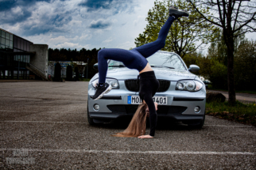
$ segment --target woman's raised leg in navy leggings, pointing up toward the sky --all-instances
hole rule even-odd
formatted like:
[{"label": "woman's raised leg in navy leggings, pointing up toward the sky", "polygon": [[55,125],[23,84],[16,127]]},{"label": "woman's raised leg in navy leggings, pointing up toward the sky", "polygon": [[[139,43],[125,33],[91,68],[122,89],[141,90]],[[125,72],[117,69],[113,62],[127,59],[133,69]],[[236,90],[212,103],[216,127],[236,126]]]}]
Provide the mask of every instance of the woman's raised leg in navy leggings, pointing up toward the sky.
[{"label": "woman's raised leg in navy leggings, pointing up toward the sky", "polygon": [[165,22],[165,25],[160,29],[157,40],[152,43],[146,43],[140,47],[134,48],[134,50],[138,51],[145,58],[148,58],[150,55],[153,55],[155,52],[161,50],[161,48],[165,47],[165,39],[168,35],[169,29],[171,28],[174,17],[169,17]]}]

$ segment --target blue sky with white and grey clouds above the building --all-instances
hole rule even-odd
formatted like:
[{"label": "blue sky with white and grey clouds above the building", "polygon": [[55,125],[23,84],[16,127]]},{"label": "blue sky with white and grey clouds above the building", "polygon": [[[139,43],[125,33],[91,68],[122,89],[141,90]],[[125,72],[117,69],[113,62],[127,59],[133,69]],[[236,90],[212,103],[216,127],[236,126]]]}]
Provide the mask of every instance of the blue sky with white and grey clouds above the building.
[{"label": "blue sky with white and grey clouds above the building", "polygon": [[[0,28],[52,48],[135,47],[155,0],[0,0]],[[246,35],[256,40],[256,33]]]}]

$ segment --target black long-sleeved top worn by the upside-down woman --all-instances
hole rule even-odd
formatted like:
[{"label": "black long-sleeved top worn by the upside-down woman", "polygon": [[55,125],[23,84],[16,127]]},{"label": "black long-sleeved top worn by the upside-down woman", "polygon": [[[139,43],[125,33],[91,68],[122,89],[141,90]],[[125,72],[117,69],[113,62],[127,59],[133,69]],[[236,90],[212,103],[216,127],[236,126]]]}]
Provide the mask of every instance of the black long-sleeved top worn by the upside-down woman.
[{"label": "black long-sleeved top worn by the upside-down woman", "polygon": [[155,135],[157,127],[157,111],[153,103],[153,96],[157,93],[159,81],[157,80],[153,71],[143,72],[139,76],[140,92],[139,96],[149,107],[149,123],[150,123],[150,136]]}]

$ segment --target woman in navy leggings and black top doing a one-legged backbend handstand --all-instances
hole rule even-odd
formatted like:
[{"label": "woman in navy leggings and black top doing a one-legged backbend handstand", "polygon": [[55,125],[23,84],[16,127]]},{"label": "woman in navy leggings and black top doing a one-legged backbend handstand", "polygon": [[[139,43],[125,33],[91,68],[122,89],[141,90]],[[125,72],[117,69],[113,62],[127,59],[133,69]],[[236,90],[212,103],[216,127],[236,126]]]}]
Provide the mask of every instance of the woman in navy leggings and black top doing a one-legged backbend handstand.
[{"label": "woman in navy leggings and black top doing a one-legged backbend handstand", "polygon": [[[122,136],[139,136],[138,138],[153,138],[155,134],[155,128],[157,126],[157,111],[155,104],[153,103],[153,96],[157,92],[157,89],[159,87],[159,81],[155,77],[153,69],[149,65],[149,62],[146,60],[146,58],[161,50],[161,48],[165,47],[165,39],[168,35],[169,28],[173,24],[173,21],[178,17],[188,17],[188,13],[180,11],[176,7],[171,6],[169,8],[168,20],[161,28],[157,40],[152,43],[146,43],[132,50],[104,48],[98,53],[99,84],[97,86],[95,95],[92,96],[93,100],[100,99],[103,94],[108,93],[112,89],[111,85],[105,83],[107,76],[108,59],[123,62],[123,64],[129,69],[136,69],[139,72],[139,96],[142,99],[143,103],[139,105],[138,110],[136,111],[132,121],[130,122],[130,125],[133,124],[133,126],[129,125],[129,127],[139,129],[139,131],[135,130],[136,133],[133,134],[131,131],[127,130],[129,128],[128,127],[123,133],[121,133]],[[145,134],[144,127],[146,108],[148,108],[149,110],[150,133],[149,135],[140,136],[141,134]],[[138,118],[139,115],[142,115],[141,119]],[[136,126],[143,127],[143,129],[137,128]],[[118,136],[118,134],[116,135]]]}]

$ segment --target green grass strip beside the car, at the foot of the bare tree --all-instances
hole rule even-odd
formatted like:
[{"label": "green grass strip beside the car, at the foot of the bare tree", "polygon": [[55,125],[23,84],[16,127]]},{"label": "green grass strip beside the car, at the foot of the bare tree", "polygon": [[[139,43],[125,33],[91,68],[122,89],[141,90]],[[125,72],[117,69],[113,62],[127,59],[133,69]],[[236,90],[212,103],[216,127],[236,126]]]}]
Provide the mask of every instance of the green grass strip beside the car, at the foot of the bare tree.
[{"label": "green grass strip beside the car, at the foot of the bare tree", "polygon": [[220,119],[228,119],[256,127],[256,104],[242,104],[238,100],[234,106],[227,101],[206,103],[206,115]]}]

